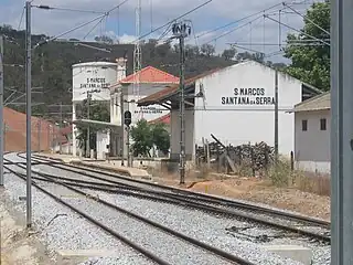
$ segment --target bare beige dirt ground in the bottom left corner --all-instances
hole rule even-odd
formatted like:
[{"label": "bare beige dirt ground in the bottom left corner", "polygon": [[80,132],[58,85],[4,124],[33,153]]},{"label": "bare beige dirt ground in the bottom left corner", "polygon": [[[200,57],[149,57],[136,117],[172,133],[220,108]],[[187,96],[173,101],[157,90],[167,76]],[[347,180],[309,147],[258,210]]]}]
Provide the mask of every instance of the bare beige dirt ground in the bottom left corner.
[{"label": "bare beige dirt ground in the bottom left corner", "polygon": [[35,229],[25,227],[25,216],[14,210],[2,189],[0,189],[0,225],[1,225],[1,265],[72,265],[55,256],[52,259],[45,246],[35,237]]}]

